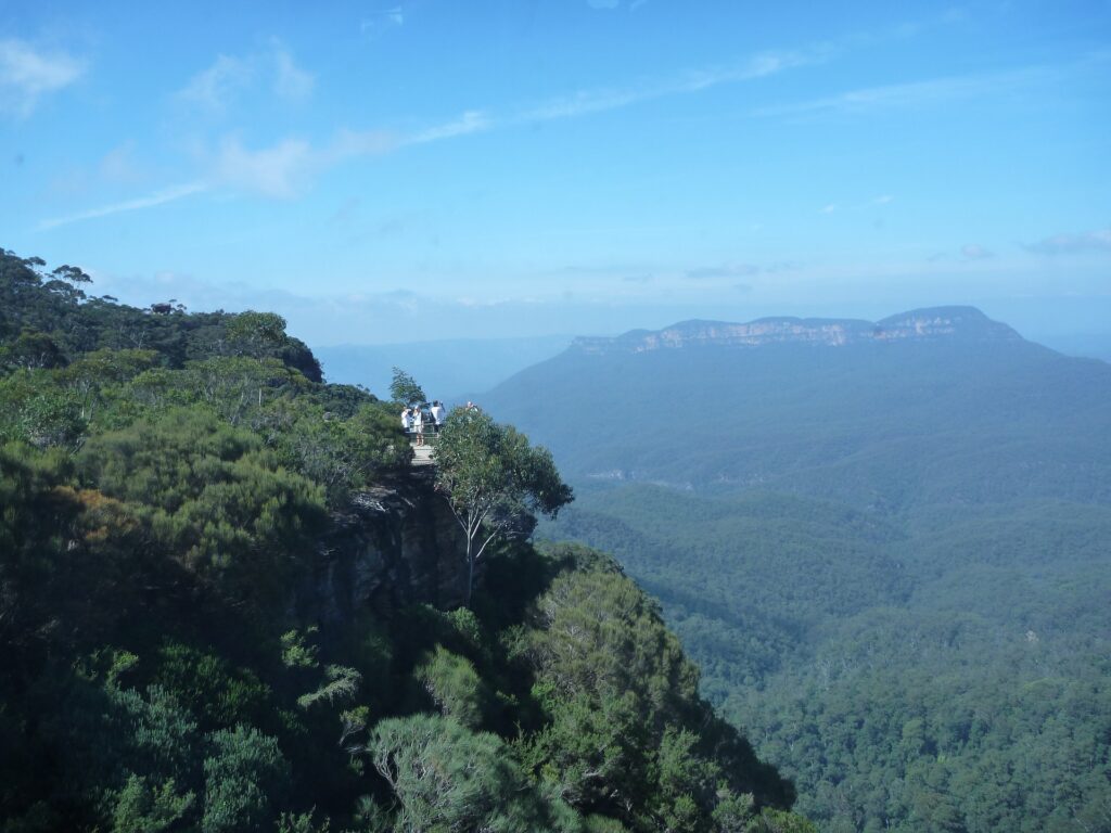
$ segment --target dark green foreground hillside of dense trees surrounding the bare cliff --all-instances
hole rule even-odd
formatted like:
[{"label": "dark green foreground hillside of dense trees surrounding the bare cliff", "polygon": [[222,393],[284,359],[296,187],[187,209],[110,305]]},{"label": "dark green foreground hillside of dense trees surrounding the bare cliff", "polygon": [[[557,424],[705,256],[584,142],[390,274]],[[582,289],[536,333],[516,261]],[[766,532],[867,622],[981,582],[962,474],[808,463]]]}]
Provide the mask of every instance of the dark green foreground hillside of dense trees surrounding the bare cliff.
[{"label": "dark green foreground hillside of dense trees surrounding the bare cliff", "polygon": [[0,830],[812,830],[605,555],[499,542],[469,608],[298,603],[413,476],[400,405],[277,315],[90,292],[0,251]]}]

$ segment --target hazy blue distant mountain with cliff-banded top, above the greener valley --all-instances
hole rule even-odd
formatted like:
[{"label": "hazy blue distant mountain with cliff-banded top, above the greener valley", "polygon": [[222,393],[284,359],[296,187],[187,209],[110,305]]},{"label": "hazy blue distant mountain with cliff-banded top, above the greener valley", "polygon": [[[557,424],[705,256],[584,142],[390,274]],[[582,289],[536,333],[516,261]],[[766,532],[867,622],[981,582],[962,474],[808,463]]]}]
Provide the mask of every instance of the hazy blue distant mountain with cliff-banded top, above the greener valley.
[{"label": "hazy blue distant mountain with cliff-banded top, above the greener valley", "polygon": [[[1109,391],[1104,362],[940,308],[580,339],[483,403],[572,478],[852,491],[870,505],[1004,491],[1107,499]],[[968,461],[982,478],[959,476]]]}]

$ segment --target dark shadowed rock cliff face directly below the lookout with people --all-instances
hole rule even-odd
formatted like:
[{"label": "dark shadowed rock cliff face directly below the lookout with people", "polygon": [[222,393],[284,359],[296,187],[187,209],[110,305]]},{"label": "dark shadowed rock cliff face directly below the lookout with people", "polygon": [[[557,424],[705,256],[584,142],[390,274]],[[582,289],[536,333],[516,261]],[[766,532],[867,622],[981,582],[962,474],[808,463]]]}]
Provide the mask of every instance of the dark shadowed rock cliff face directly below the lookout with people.
[{"label": "dark shadowed rock cliff face directly below the lookout with people", "polygon": [[382,614],[406,604],[452,608],[463,600],[464,552],[431,472],[413,470],[360,492],[333,516],[298,606],[321,622],[348,620],[368,606]]}]

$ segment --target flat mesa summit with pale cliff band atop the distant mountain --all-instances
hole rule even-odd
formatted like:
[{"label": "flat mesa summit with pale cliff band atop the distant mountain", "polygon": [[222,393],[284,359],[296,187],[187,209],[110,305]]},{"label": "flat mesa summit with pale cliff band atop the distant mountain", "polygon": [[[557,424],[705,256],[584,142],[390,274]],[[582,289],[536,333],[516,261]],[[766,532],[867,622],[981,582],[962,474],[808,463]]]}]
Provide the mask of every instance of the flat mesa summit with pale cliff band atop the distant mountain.
[{"label": "flat mesa summit with pale cliff band atop the distant mountain", "polygon": [[579,338],[571,347],[585,353],[640,353],[683,347],[843,347],[892,341],[1018,341],[1021,338],[1010,327],[992,321],[974,307],[933,307],[878,322],[818,318],[762,318],[743,324],[682,321],[654,332],[632,330],[612,339]]}]

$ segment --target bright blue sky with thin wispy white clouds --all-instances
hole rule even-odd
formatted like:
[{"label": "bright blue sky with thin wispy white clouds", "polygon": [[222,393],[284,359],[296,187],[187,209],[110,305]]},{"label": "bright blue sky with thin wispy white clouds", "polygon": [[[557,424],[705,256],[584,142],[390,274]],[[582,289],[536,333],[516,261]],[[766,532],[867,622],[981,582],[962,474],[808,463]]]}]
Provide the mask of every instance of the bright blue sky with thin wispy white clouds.
[{"label": "bright blue sky with thin wispy white clouds", "polygon": [[1111,1],[0,0],[0,247],[310,345],[1111,343]]}]

